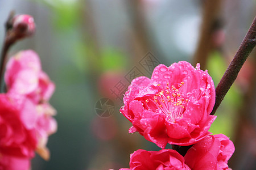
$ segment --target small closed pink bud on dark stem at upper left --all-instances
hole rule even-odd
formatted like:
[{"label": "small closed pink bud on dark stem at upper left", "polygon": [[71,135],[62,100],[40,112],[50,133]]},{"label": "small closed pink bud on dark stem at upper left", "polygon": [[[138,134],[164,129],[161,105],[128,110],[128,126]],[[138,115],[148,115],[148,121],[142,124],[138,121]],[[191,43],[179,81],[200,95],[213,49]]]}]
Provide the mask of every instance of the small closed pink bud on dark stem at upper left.
[{"label": "small closed pink bud on dark stem at upper left", "polygon": [[18,39],[31,36],[35,33],[35,22],[31,15],[21,14],[13,18],[13,31]]}]

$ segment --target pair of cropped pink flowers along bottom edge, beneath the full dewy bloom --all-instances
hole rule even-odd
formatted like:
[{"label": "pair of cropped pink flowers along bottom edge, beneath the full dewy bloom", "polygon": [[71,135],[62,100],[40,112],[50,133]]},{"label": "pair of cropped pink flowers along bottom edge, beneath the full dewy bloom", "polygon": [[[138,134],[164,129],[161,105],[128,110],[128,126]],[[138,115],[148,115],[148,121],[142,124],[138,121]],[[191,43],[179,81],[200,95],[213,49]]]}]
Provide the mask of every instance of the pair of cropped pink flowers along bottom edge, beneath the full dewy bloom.
[{"label": "pair of cropped pink flowers along bottom edge, beneath the full dewy bloom", "polygon": [[[228,160],[234,152],[234,145],[224,134],[208,135],[193,145],[183,157],[177,151],[163,149],[160,151],[137,150],[131,154],[131,170],[171,170],[171,169],[226,169]],[[121,170],[128,170],[122,168]]]}]

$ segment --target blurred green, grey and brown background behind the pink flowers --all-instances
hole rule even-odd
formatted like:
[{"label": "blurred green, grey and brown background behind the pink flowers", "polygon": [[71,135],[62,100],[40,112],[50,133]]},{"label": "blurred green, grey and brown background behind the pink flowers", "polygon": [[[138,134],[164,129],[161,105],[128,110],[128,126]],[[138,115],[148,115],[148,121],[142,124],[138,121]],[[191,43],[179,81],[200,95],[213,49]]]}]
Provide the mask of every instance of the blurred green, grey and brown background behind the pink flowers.
[{"label": "blurred green, grey and brown background behind the pink flowers", "polygon": [[[159,150],[128,133],[131,124],[119,113],[124,89],[117,96],[112,91],[118,82],[126,88],[134,67],[150,77],[152,68],[139,64],[150,52],[167,66],[200,62],[217,86],[256,14],[256,1],[0,0],[0,46],[11,10],[34,16],[36,34],[16,43],[9,55],[35,50],[56,83],[51,104],[58,131],[49,137],[51,159],[36,156],[32,169],[103,170],[128,168],[139,148]],[[233,169],[256,168],[255,56],[254,51],[210,128],[234,142]],[[114,101],[110,117],[96,114],[102,97]]]}]

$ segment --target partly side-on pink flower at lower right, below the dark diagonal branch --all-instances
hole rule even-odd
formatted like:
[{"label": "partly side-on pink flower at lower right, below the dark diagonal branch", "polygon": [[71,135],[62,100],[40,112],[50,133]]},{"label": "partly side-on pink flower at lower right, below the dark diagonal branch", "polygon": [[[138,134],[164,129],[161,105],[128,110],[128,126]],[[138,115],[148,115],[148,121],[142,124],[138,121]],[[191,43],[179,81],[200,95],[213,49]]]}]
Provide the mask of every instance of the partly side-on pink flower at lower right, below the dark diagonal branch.
[{"label": "partly side-on pink flower at lower right, below the dark diagonal branch", "polygon": [[189,148],[184,158],[191,169],[228,170],[228,160],[233,153],[233,142],[224,134],[208,135]]}]

